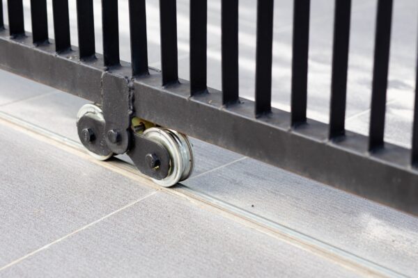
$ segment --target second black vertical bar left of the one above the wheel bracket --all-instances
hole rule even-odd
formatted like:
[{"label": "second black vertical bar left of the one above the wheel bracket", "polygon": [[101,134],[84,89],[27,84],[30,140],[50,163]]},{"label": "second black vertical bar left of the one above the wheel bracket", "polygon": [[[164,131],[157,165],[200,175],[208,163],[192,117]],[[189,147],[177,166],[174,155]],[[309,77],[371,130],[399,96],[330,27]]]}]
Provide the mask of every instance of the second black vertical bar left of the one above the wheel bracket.
[{"label": "second black vertical bar left of the one above the wheel bracket", "polygon": [[68,0],[52,0],[54,16],[54,36],[56,52],[71,48],[70,15],[68,14]]}]

